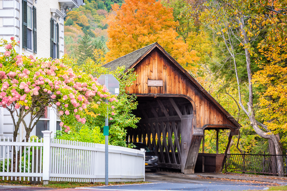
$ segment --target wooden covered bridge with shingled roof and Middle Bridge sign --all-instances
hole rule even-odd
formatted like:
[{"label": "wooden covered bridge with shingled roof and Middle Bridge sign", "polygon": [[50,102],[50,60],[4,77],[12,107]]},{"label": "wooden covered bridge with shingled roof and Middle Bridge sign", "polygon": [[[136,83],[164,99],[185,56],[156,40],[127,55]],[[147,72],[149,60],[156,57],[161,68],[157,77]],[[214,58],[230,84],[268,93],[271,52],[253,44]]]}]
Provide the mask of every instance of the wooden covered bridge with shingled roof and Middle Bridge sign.
[{"label": "wooden covered bridge with shingled roof and Middle Bridge sign", "polygon": [[218,130],[230,129],[227,152],[232,135],[238,134],[238,122],[158,43],[104,65],[111,70],[118,66],[134,68],[138,74],[126,90],[136,94],[134,114],[141,120],[137,129],[127,129],[126,140],[138,138],[147,144],[158,155],[160,168],[191,174],[197,165],[201,172],[219,172],[225,155],[206,153],[197,160],[204,130],[217,131],[218,151]]}]

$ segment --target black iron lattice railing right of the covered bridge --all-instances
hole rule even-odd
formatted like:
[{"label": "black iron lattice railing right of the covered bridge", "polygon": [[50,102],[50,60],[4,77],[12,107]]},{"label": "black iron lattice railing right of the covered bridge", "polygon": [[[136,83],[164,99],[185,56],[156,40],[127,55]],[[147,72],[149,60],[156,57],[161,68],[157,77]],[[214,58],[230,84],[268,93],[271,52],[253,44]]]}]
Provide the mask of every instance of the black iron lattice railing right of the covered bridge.
[{"label": "black iron lattice railing right of the covered bridge", "polygon": [[226,172],[287,175],[287,155],[227,154]]}]

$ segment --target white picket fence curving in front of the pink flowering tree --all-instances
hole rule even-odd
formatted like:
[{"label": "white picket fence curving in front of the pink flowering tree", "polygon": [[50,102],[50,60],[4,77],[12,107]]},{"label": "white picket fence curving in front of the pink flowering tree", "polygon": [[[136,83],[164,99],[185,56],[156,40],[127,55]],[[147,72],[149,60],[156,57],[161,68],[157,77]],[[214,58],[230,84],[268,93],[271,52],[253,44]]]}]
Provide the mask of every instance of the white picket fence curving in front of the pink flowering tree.
[{"label": "white picket fence curving in front of the pink flowering tree", "polygon": [[[51,131],[42,132],[44,137],[40,140],[0,140],[3,180],[105,181],[105,145],[51,139]],[[145,151],[109,145],[109,182],[144,181],[144,163]]]}]

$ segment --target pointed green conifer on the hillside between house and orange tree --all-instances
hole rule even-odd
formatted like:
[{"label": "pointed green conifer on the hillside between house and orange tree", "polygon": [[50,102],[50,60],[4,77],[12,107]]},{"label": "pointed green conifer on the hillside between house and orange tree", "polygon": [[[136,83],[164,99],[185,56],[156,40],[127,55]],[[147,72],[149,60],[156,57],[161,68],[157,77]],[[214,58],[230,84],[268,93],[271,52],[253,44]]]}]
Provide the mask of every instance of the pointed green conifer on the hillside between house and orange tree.
[{"label": "pointed green conifer on the hillside between house and orange tree", "polygon": [[79,65],[83,64],[86,58],[93,56],[93,48],[92,38],[88,34],[85,34],[82,40],[78,41],[76,49],[76,58]]}]

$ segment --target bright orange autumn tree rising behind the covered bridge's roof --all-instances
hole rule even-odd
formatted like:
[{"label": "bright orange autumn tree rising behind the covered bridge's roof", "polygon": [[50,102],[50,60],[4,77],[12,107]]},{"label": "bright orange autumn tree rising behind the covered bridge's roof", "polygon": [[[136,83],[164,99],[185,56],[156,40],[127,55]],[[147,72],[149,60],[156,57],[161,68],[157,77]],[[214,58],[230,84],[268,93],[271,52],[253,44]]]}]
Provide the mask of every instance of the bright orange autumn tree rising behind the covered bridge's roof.
[{"label": "bright orange autumn tree rising behind the covered bridge's roof", "polygon": [[126,0],[121,7],[114,4],[107,22],[110,50],[107,62],[158,42],[186,69],[197,70],[197,52],[188,51],[188,44],[178,38],[175,30],[178,23],[174,21],[172,8],[164,7],[160,1]]}]

